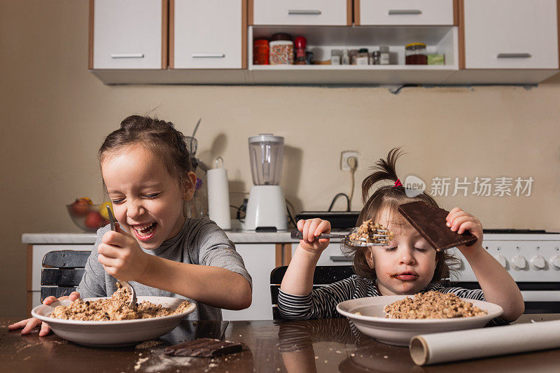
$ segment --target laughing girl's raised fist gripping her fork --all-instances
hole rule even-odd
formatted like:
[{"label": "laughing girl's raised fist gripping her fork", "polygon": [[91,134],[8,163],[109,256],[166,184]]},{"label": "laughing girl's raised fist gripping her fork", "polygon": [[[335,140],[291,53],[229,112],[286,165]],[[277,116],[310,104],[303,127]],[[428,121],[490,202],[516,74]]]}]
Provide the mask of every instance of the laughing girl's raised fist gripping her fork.
[{"label": "laughing girl's raised fist gripping her fork", "polygon": [[102,243],[97,246],[97,260],[109,275],[118,280],[134,281],[139,279],[148,267],[149,256],[140,248],[134,237],[115,223],[116,231],[110,230],[103,235]]}]

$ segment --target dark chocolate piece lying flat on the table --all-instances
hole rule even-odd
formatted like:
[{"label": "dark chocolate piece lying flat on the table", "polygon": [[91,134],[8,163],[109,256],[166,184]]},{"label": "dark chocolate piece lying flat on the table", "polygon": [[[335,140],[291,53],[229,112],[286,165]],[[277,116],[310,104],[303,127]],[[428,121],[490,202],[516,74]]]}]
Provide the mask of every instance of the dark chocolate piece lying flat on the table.
[{"label": "dark chocolate piece lying flat on the table", "polygon": [[190,356],[193,358],[214,358],[243,350],[243,345],[219,339],[200,338],[165,348],[165,353],[172,356]]}]

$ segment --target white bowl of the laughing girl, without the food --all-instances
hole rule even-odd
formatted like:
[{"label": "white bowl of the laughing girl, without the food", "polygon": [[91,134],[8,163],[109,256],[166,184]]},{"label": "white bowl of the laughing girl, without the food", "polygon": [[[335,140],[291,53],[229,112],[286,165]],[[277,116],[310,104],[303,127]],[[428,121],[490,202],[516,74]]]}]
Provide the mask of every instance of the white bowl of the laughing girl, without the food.
[{"label": "white bowl of the laughing girl, without the food", "polygon": [[[84,300],[99,300],[100,298],[85,298]],[[163,307],[174,309],[179,306],[183,299],[172,297],[138,297],[138,302],[147,300]],[[154,339],[172,331],[181,320],[195,311],[196,305],[190,303],[190,307],[181,314],[162,316],[155,318],[139,318],[123,321],[81,321],[63,320],[50,317],[51,312],[59,305],[68,306],[70,300],[63,300],[54,304],[41,304],[31,310],[31,316],[48,323],[52,332],[59,337],[85,346],[126,346],[146,339]],[[52,307],[54,306],[54,307]]]}]

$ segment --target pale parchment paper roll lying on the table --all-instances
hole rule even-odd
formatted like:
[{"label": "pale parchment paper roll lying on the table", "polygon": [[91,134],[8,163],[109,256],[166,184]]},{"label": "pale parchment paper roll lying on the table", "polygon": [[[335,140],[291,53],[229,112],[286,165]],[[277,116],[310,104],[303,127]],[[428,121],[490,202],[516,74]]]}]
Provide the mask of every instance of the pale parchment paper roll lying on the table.
[{"label": "pale parchment paper roll lying on the table", "polygon": [[417,365],[558,347],[560,320],[415,335],[409,344],[410,356]]}]

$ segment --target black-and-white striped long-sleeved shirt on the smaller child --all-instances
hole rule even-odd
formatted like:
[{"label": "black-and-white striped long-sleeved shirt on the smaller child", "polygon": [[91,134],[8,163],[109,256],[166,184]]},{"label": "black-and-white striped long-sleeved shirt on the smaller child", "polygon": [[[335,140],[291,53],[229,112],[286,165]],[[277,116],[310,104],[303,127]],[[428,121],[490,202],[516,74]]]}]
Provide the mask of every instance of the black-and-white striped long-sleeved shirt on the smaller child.
[{"label": "black-and-white striped long-sleeved shirt on the smaller child", "polygon": [[[481,289],[469,290],[464,288],[445,287],[442,283],[429,283],[420,293],[429,290],[440,293],[455,293],[458,297],[472,300],[486,300]],[[278,309],[280,315],[288,320],[309,320],[314,318],[342,318],[336,310],[337,304],[345,300],[363,297],[379,297],[375,280],[365,279],[356,274],[330,285],[311,290],[309,295],[291,295],[282,290],[278,294]],[[507,323],[502,318],[494,318],[491,324]]]}]

